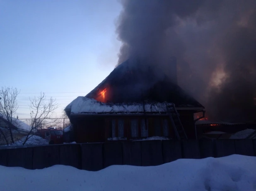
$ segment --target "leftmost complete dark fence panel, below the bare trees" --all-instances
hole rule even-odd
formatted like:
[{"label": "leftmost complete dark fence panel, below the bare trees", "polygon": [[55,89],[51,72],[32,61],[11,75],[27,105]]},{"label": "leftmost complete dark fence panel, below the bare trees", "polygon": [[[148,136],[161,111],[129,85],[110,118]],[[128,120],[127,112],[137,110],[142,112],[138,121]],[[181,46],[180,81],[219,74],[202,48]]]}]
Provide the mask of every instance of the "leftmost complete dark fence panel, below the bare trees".
[{"label": "leftmost complete dark fence panel, below the bare trees", "polygon": [[8,167],[23,167],[32,169],[33,148],[7,149]]}]

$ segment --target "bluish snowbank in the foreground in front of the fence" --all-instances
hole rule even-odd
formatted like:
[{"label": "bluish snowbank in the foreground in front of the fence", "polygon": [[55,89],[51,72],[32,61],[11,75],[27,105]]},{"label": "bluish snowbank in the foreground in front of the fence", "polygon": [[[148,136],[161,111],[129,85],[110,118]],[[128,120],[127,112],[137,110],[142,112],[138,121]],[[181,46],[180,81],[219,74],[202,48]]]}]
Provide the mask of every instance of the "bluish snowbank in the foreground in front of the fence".
[{"label": "bluish snowbank in the foreground in front of the fence", "polygon": [[98,172],[56,165],[0,166],[1,191],[255,191],[256,157],[180,159],[154,167],[110,166]]}]

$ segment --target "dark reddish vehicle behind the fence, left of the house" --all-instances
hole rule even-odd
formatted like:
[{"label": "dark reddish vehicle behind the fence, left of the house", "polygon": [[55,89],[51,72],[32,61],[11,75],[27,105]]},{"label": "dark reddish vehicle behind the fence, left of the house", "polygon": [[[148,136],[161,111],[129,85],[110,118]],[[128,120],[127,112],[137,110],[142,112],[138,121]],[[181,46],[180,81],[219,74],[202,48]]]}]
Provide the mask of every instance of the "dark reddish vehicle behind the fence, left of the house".
[{"label": "dark reddish vehicle behind the fence, left of the house", "polygon": [[49,144],[62,144],[63,131],[54,128],[38,130],[38,135],[49,141]]}]

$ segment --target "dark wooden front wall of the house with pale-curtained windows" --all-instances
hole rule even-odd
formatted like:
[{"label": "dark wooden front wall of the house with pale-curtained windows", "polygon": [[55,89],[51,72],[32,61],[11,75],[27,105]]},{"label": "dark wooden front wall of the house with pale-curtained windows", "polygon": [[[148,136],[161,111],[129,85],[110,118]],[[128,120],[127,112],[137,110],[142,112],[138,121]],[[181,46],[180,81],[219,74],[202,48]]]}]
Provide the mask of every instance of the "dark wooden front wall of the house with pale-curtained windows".
[{"label": "dark wooden front wall of the house with pale-curtained windows", "polygon": [[[179,111],[189,139],[195,139],[193,113]],[[86,116],[72,119],[77,143],[104,142],[109,138],[143,139],[159,136],[175,139],[169,116]]]}]

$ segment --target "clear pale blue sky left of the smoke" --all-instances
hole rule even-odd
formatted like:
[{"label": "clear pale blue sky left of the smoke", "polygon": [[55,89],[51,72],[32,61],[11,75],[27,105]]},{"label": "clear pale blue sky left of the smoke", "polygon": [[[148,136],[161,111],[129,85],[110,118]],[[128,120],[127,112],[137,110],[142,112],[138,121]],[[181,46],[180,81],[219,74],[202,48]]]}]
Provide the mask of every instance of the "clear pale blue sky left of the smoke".
[{"label": "clear pale blue sky left of the smoke", "polygon": [[[114,69],[117,0],[0,0],[0,86],[17,87],[19,118],[45,92],[61,110]],[[72,92],[72,93],[71,93]]]}]

